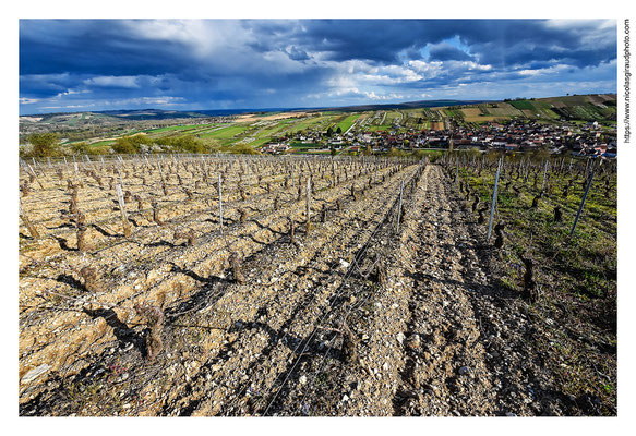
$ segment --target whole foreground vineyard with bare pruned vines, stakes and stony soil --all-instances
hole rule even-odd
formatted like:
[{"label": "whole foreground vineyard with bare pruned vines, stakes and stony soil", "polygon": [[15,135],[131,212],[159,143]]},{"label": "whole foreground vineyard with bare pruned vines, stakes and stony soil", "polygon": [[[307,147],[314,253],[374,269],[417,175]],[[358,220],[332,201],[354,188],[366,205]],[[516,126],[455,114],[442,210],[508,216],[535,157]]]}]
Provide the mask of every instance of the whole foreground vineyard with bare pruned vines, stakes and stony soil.
[{"label": "whole foreground vineyard with bare pruned vines, stakes and stony soil", "polygon": [[435,157],[21,161],[20,414],[615,415],[615,162]]}]

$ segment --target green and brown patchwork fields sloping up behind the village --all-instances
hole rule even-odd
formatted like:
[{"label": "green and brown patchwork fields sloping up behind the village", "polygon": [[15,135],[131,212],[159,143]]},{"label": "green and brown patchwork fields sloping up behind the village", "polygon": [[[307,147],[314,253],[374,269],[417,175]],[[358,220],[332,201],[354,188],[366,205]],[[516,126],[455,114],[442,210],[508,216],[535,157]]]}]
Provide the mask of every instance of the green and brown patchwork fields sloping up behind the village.
[{"label": "green and brown patchwork fields sloping up behind the village", "polygon": [[[84,118],[85,114],[82,114]],[[104,117],[91,114],[92,118]],[[298,131],[326,131],[329,126],[338,126],[346,132],[361,117],[360,113],[343,113],[326,111],[317,117],[307,119],[279,120],[267,126],[254,126],[249,123],[228,123],[219,129],[219,124],[172,125],[144,131],[132,131],[127,134],[146,133],[151,137],[163,135],[200,135],[201,138],[215,138],[223,145],[232,145],[241,140],[256,147],[268,142],[273,136]],[[500,101],[491,104],[467,105],[461,107],[417,108],[405,110],[387,110],[365,112],[368,118],[360,124],[364,131],[394,130],[393,123],[399,120],[400,131],[407,129],[443,129],[444,120],[452,119],[456,124],[477,125],[489,121],[505,121],[512,118],[526,118],[538,122],[553,122],[565,118],[571,122],[600,121],[608,124],[616,119],[615,96],[565,96],[539,99]],[[76,116],[49,116],[61,122],[71,124],[80,120]],[[87,118],[87,117],[86,117]],[[223,125],[223,124],[221,124]],[[115,136],[113,136],[115,137]],[[95,145],[110,144],[112,140],[96,137]],[[95,141],[94,140],[94,141]],[[100,141],[99,141],[100,140]]]}]

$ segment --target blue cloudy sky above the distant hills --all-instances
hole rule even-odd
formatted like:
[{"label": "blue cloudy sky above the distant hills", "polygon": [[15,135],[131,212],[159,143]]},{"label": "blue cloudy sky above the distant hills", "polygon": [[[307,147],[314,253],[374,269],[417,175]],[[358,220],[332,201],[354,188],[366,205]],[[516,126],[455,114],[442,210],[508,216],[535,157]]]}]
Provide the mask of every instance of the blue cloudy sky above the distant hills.
[{"label": "blue cloudy sky above the distant hills", "polygon": [[616,93],[615,20],[20,20],[20,113]]}]

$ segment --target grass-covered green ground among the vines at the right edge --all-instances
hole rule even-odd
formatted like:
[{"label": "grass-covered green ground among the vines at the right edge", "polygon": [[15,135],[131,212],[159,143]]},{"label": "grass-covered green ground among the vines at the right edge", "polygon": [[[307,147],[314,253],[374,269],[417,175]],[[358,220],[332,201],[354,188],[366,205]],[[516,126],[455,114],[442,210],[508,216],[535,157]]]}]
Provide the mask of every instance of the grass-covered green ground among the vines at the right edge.
[{"label": "grass-covered green ground among the vines at the right edge", "polygon": [[[560,164],[554,160],[553,165]],[[555,374],[563,392],[576,398],[593,396],[600,400],[602,413],[612,414],[616,401],[616,177],[614,173],[609,178],[609,189],[601,177],[595,178],[571,238],[583,195],[583,177],[574,178],[576,182],[564,197],[564,186],[572,178],[550,171],[550,193],[537,208],[531,208],[542,180],[538,172],[538,187],[533,187],[533,177],[527,183],[514,182],[521,190],[519,196],[505,189],[505,183],[500,186],[497,219],[507,223],[507,242],[499,253],[499,282],[513,292],[519,291],[521,255],[535,259],[535,279],[542,292],[535,310],[557,320],[551,331],[553,339],[535,338],[550,350],[545,365]],[[494,170],[480,177],[472,170],[461,171],[460,178],[477,190],[482,204],[488,204]],[[554,221],[554,206],[563,211],[562,222]]]}]

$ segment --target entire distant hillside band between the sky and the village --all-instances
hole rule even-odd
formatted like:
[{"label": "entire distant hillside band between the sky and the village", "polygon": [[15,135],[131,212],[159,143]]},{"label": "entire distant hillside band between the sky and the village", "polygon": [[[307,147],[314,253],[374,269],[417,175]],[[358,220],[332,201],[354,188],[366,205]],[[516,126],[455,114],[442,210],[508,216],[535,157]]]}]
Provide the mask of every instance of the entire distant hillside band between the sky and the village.
[{"label": "entire distant hillside band between the sky and the village", "polygon": [[109,153],[108,146],[118,137],[136,133],[144,133],[152,141],[189,135],[206,141],[215,148],[236,145],[259,148],[268,142],[292,136],[307,143],[301,143],[300,147],[312,147],[324,140],[322,136],[329,128],[334,132],[340,129],[340,132],[350,134],[412,134],[424,130],[480,130],[489,122],[526,120],[552,124],[567,122],[580,126],[598,121],[611,131],[616,123],[616,96],[576,95],[480,102],[434,100],[320,111],[230,112],[233,113],[145,109],[24,116],[20,118],[20,138],[21,144],[26,144],[32,133],[58,132],[62,144],[86,141],[92,147],[106,146],[99,153]]}]

